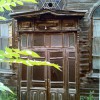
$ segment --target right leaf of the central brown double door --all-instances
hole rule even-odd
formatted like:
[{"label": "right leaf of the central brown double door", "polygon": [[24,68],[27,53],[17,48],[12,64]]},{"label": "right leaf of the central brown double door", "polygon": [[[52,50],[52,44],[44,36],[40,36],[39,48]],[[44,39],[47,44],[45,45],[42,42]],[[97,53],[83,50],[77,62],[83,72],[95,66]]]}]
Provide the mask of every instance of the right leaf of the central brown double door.
[{"label": "right leaf of the central brown double door", "polygon": [[62,71],[49,67],[48,73],[48,100],[64,100],[64,50],[48,50],[48,60],[61,66]]}]

